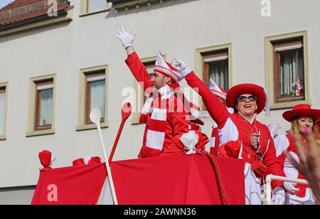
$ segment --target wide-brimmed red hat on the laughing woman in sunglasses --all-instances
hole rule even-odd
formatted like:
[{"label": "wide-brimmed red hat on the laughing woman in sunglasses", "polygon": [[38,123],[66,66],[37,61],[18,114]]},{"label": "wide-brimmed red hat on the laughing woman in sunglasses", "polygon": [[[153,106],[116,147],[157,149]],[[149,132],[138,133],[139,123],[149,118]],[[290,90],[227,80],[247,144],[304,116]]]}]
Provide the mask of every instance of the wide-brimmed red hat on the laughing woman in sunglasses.
[{"label": "wide-brimmed red hat on the laughing woman in sunglasses", "polygon": [[257,97],[257,110],[256,113],[259,114],[265,109],[266,105],[266,94],[263,87],[253,84],[240,84],[235,85],[227,92],[227,106],[235,109],[235,100],[244,94],[255,95]]}]

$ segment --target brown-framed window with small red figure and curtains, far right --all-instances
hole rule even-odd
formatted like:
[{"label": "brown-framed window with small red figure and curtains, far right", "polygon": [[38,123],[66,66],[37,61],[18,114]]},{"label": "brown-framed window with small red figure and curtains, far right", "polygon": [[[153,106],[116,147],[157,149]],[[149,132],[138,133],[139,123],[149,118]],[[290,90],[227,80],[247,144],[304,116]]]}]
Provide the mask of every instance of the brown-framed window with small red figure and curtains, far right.
[{"label": "brown-framed window with small red figure and curtains, far right", "polygon": [[305,100],[302,39],[274,43],[274,100]]}]

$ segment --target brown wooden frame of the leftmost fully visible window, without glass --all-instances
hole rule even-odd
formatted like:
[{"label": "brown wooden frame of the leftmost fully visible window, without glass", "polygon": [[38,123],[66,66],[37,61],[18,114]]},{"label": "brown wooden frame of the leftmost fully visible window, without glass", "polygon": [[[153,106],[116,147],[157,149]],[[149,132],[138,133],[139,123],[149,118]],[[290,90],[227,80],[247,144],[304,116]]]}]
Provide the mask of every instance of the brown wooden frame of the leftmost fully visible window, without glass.
[{"label": "brown wooden frame of the leftmost fully visible window, without glass", "polygon": [[[35,122],[34,122],[34,129],[33,129],[35,132],[51,129],[51,126],[52,126],[52,121],[50,125],[41,126],[39,124],[40,116],[41,116],[40,110],[41,110],[41,91],[42,90],[38,90],[38,87],[43,85],[53,85],[53,79],[36,82],[36,106],[35,106],[35,119],[34,119]],[[53,90],[54,90],[54,87],[53,87]]]}]

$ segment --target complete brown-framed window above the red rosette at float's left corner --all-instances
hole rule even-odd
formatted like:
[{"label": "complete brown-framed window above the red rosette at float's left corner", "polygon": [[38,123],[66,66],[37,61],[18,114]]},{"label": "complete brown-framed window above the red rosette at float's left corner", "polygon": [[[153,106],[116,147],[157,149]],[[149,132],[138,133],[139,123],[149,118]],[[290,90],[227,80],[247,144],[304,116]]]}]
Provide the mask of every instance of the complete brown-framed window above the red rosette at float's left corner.
[{"label": "complete brown-framed window above the red rosette at float's left corner", "polygon": [[35,131],[51,129],[53,112],[53,80],[36,82]]}]

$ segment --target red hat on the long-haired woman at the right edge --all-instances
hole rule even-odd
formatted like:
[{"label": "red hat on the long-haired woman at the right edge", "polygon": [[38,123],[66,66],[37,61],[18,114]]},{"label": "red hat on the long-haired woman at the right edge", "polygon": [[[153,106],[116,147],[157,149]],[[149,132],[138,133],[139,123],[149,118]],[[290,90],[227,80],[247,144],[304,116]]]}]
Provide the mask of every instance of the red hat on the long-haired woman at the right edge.
[{"label": "red hat on the long-haired woman at the right edge", "polygon": [[310,105],[296,105],[293,110],[289,110],[282,114],[282,117],[288,122],[292,122],[294,117],[309,116],[314,117],[314,121],[320,119],[320,110],[311,109]]}]

